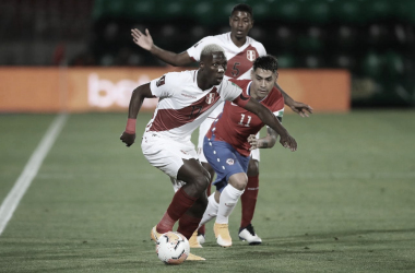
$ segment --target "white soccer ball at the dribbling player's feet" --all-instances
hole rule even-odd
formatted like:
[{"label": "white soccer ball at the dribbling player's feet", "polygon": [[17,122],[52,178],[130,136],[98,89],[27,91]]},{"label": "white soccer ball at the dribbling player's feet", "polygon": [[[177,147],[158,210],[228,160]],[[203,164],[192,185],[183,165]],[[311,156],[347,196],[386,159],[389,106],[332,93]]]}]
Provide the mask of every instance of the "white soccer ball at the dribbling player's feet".
[{"label": "white soccer ball at the dribbling player's feet", "polygon": [[189,256],[188,239],[179,233],[168,232],[158,237],[156,253],[158,259],[167,264],[180,264]]}]

